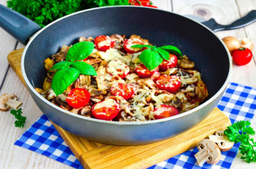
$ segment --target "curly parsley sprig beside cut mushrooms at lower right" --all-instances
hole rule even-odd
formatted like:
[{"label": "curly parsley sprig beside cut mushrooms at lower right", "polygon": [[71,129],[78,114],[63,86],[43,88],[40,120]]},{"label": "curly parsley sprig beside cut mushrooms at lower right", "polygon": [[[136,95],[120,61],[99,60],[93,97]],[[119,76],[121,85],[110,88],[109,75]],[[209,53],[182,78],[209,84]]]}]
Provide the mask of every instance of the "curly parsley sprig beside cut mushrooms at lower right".
[{"label": "curly parsley sprig beside cut mushrooms at lower right", "polygon": [[256,142],[250,138],[250,135],[255,135],[255,131],[250,125],[249,121],[238,121],[224,131],[230,141],[241,143],[241,159],[247,160],[248,163],[256,162]]}]

